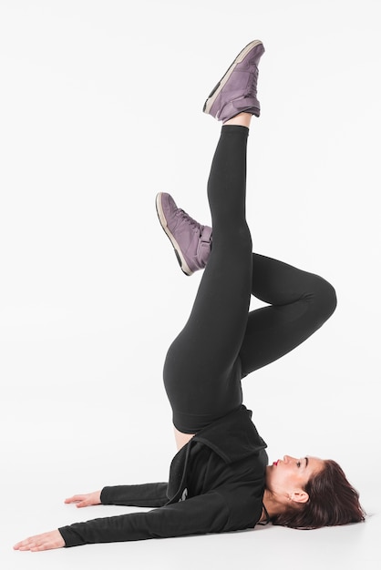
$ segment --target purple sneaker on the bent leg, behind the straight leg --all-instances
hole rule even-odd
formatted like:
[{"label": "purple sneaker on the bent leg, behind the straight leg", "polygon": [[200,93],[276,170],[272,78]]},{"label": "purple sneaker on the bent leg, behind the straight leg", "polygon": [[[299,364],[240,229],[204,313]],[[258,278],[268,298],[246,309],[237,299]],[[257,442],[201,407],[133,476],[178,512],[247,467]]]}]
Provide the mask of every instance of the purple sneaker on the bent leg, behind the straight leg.
[{"label": "purple sneaker on the bent leg, behind the straight leg", "polygon": [[162,229],[170,238],[181,270],[191,275],[205,267],[211,253],[211,228],[201,226],[178,208],[170,194],[160,192],[156,210]]}]

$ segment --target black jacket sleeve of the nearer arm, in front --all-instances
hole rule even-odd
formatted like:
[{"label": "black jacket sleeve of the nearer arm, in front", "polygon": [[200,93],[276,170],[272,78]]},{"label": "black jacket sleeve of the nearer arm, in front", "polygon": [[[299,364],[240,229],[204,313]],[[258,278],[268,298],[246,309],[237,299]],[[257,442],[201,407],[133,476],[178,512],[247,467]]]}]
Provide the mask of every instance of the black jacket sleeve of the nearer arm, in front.
[{"label": "black jacket sleeve of the nearer arm, in front", "polygon": [[166,504],[148,513],[98,518],[59,528],[66,546],[168,538],[229,530],[229,509],[221,494],[211,492]]}]

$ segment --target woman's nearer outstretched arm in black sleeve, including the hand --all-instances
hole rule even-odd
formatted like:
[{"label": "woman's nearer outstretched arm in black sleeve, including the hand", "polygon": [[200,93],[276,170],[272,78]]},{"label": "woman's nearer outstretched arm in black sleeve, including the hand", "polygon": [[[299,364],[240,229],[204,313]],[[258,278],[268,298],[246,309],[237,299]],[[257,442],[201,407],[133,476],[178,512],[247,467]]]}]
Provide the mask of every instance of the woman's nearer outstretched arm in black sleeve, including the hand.
[{"label": "woman's nearer outstretched arm in black sleeve, including the hand", "polygon": [[[252,489],[252,484],[251,484]],[[128,542],[152,538],[224,533],[253,527],[262,513],[262,486],[248,502],[235,484],[221,492],[187,498],[148,512],[119,514],[60,527],[15,545],[15,550],[40,551],[62,546]]]}]

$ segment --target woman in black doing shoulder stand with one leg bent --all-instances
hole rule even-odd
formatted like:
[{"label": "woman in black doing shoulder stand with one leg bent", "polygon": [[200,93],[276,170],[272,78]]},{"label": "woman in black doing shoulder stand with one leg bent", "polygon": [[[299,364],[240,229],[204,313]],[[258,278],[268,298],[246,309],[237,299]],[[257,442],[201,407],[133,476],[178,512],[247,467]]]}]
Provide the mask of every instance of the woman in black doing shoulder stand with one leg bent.
[{"label": "woman in black doing shoulder stand with one leg bent", "polygon": [[[222,533],[270,521],[318,528],[365,518],[337,463],[285,455],[268,465],[266,443],[242,404],[242,378],[305,341],[336,304],[324,279],[252,254],[246,148],[252,116],[260,115],[256,86],[263,52],[260,41],[245,46],[203,108],[222,122],[208,181],[212,232],[169,194],[156,198],[181,269],[190,275],[205,268],[189,321],[164,364],[179,449],[170,481],[105,487],[66,501],[157,508],[64,526],[15,549]],[[251,295],[268,306],[249,312]]]}]

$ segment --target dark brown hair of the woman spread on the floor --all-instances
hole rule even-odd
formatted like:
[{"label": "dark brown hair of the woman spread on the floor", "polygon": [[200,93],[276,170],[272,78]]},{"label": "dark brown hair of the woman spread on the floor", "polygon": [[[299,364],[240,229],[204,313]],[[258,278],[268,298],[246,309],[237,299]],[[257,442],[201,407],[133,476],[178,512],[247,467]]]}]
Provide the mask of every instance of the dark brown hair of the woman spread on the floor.
[{"label": "dark brown hair of the woman spread on the floor", "polygon": [[313,529],[365,521],[358,492],[348,483],[340,465],[331,459],[324,461],[323,470],[311,477],[304,491],[309,495],[307,503],[276,514],[273,524]]}]

